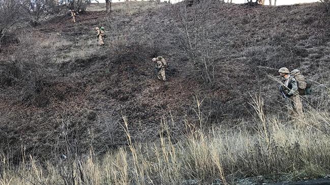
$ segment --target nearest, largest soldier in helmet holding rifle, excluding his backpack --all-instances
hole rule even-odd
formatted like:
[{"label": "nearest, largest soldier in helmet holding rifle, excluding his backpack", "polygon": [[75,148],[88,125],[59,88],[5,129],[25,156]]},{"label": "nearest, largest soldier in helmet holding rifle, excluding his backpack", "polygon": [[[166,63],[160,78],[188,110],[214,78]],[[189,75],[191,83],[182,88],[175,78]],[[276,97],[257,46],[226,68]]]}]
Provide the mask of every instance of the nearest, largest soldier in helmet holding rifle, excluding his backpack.
[{"label": "nearest, largest soldier in helmet holding rifle, excluding his backpack", "polygon": [[284,95],[289,99],[289,115],[303,116],[303,104],[298,92],[298,84],[287,68],[281,68],[279,73],[282,77],[282,89]]}]

